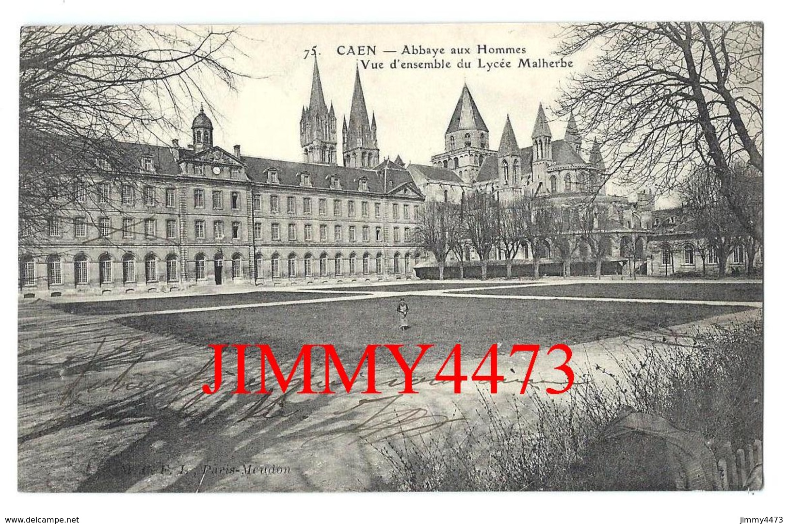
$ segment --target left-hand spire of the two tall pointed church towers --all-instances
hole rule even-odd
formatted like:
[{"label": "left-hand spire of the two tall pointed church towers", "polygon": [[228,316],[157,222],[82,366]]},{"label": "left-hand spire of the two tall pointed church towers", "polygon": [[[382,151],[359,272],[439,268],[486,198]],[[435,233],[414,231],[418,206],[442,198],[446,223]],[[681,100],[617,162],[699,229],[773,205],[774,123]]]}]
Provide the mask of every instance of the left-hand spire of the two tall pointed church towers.
[{"label": "left-hand spire of the two tall pointed church towers", "polygon": [[301,148],[303,161],[336,165],[336,116],[334,105],[325,105],[320,82],[318,58],[314,58],[309,106],[301,110]]}]

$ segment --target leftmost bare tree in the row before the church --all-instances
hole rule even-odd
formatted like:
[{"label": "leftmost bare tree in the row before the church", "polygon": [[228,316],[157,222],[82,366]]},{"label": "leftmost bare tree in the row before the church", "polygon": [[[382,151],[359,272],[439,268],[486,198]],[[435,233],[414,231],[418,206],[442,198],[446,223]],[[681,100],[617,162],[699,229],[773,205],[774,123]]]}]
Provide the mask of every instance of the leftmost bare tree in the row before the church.
[{"label": "leftmost bare tree in the row before the church", "polygon": [[435,257],[438,278],[444,279],[446,257],[452,251],[452,242],[458,236],[459,210],[450,203],[426,202],[418,214],[416,240],[418,245]]}]

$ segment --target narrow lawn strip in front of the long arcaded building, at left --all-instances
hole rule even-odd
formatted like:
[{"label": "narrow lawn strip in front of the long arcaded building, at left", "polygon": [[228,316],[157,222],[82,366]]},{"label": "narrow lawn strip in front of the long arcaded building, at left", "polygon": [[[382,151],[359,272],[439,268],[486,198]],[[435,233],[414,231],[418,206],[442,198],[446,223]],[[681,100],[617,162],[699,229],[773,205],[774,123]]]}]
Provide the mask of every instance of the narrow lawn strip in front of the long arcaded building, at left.
[{"label": "narrow lawn strip in front of the long arcaded building, at left", "polygon": [[157,296],[144,299],[100,300],[95,302],[54,303],[52,305],[64,310],[66,313],[74,314],[128,314],[146,311],[181,310],[193,307],[328,299],[333,296],[348,296],[348,293],[311,293],[277,290],[273,292],[230,293],[226,295]]}]

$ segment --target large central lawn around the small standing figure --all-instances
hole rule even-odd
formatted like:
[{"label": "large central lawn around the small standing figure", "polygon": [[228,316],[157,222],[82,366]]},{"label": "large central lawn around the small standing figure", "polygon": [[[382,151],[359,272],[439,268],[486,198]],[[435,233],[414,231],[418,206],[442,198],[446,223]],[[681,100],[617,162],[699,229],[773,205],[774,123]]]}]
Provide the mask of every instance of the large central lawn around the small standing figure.
[{"label": "large central lawn around the small standing figure", "polygon": [[[609,336],[678,325],[745,307],[683,304],[544,302],[411,296],[411,329],[400,332],[397,300],[366,299],[241,310],[151,314],[120,321],[137,329],[175,336],[206,347],[212,343],[269,344],[294,356],[303,344],[334,344],[340,355],[358,358],[370,343],[436,344],[446,355],[463,343],[481,357],[490,344],[578,344]],[[428,354],[429,355],[429,354]]]}]

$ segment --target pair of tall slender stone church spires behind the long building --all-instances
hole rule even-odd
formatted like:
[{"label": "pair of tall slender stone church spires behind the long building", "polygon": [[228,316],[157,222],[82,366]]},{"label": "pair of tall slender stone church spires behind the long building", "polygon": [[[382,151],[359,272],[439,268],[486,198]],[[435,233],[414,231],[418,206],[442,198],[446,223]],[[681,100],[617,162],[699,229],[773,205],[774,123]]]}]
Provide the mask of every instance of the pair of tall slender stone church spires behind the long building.
[{"label": "pair of tall slender stone church spires behind the long building", "polygon": [[[309,107],[301,111],[301,147],[303,161],[317,164],[336,165],[336,115],[334,106],[326,105],[320,80],[318,59],[314,59],[312,91]],[[377,148],[377,123],[366,112],[364,91],[361,86],[359,68],[355,70],[355,85],[351,100],[350,116],[342,119],[343,163],[348,167],[372,168],[380,163]]]}]

